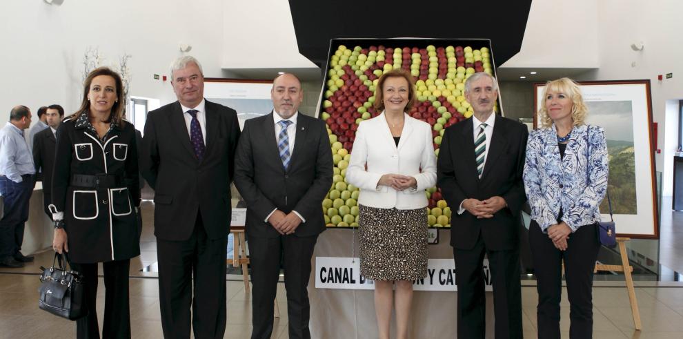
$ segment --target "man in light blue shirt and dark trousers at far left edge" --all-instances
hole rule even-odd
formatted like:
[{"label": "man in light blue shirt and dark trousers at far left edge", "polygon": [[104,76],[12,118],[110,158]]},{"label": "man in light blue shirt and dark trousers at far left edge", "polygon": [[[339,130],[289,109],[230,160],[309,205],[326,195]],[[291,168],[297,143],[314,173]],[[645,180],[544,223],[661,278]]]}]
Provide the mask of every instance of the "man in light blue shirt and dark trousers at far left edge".
[{"label": "man in light blue shirt and dark trousers at far left edge", "polygon": [[28,202],[33,193],[36,168],[24,137],[31,125],[31,110],[16,106],[10,122],[0,130],[0,195],[4,215],[0,219],[0,267],[23,267],[32,256],[21,254],[24,223],[28,220]]}]

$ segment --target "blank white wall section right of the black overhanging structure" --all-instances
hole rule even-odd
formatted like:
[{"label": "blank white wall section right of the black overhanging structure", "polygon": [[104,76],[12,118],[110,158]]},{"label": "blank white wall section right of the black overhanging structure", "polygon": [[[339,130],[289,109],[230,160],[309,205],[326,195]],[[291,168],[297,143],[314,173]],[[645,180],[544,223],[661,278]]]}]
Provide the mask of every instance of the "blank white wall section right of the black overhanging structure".
[{"label": "blank white wall section right of the black overhanging structure", "polygon": [[[504,68],[597,68],[598,17],[602,0],[533,0],[522,49]],[[504,29],[505,23],[501,23]]]}]

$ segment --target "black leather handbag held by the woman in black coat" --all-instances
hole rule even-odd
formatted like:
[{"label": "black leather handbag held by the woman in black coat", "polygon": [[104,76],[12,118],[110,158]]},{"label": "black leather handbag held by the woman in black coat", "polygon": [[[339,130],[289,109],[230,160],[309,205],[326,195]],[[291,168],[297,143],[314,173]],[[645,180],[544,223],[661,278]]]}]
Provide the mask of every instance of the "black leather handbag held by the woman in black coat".
[{"label": "black leather handbag held by the woman in black coat", "polygon": [[[55,267],[55,262],[59,266]],[[85,304],[83,276],[77,271],[68,269],[66,253],[55,253],[52,267],[41,267],[40,299],[38,307],[44,311],[66,318],[77,320],[88,315]]]}]

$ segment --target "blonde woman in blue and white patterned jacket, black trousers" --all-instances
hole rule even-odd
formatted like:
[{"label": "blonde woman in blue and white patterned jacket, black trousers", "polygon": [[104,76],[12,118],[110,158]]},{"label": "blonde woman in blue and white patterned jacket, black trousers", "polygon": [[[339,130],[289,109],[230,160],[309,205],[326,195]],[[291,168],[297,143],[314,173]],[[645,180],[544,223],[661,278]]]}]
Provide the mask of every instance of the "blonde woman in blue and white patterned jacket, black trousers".
[{"label": "blonde woman in blue and white patterned jacket, black trousers", "polygon": [[548,81],[541,128],[529,134],[524,188],[531,205],[529,243],[538,291],[539,338],[560,338],[562,262],[571,305],[570,338],[593,335],[593,267],[600,250],[595,222],[607,189],[604,129],[584,123],[588,110],[568,78]]}]

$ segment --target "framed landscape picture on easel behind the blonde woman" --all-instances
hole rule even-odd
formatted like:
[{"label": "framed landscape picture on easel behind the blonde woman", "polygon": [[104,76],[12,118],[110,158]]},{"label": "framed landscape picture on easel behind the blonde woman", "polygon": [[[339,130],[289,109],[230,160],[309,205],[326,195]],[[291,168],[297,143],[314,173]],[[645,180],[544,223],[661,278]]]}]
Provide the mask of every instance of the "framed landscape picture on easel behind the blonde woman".
[{"label": "framed landscape picture on easel behind the blonde woman", "polygon": [[[605,129],[609,155],[608,191],[617,235],[657,239],[657,193],[649,80],[579,83],[588,106],[586,124]],[[534,128],[545,84],[534,85]],[[600,204],[609,220],[607,199]]]}]

